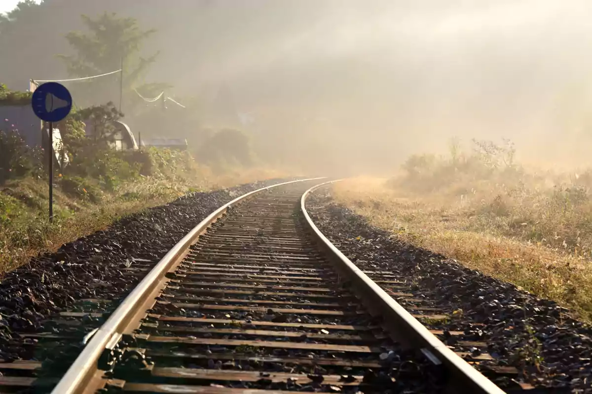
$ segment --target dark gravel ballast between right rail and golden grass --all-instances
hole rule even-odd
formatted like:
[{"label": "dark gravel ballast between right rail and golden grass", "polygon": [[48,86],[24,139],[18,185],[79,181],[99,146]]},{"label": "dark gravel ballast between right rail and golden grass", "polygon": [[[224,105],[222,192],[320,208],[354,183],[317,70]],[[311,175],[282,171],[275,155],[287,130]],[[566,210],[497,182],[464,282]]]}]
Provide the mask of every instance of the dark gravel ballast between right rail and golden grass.
[{"label": "dark gravel ballast between right rail and golden grass", "polygon": [[318,229],[360,268],[397,273],[413,294],[455,311],[437,328],[464,331],[464,340],[486,342],[494,360],[483,366],[515,366],[520,375],[513,380],[552,392],[592,393],[592,330],[571,318],[570,311],[401,242],[336,204],[329,187],[308,197],[307,210]]}]

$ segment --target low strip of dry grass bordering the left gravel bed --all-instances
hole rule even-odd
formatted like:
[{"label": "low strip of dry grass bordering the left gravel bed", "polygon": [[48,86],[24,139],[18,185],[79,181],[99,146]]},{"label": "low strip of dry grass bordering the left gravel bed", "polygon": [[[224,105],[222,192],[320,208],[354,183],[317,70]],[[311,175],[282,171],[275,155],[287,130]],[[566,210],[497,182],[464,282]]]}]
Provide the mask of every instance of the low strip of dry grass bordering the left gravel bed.
[{"label": "low strip of dry grass bordering the left gravel bed", "polygon": [[68,196],[54,188],[55,220],[47,220],[46,181],[27,178],[0,190],[0,275],[40,252],[108,227],[131,213],[169,203],[191,191],[209,191],[282,177],[279,171],[251,169],[214,176],[206,167],[168,177],[146,177],[102,193],[100,203]]}]

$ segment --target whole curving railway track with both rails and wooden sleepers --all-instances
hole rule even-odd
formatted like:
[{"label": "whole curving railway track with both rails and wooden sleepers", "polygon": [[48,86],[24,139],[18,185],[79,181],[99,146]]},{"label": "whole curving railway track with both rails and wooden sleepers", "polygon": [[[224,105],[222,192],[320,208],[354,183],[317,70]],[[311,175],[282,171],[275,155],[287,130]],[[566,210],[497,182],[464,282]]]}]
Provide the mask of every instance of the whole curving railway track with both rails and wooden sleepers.
[{"label": "whole curving railway track with both rails and wooden sleepers", "polygon": [[[126,299],[86,300],[32,335],[31,360],[0,363],[0,392],[503,393],[461,358],[487,359],[464,351],[482,344],[455,341],[455,353],[436,336],[461,333],[420,323],[447,311],[318,232],[304,201],[320,182],[221,207],[156,265],[130,269],[144,278]],[[47,351],[63,363],[39,363]]]}]

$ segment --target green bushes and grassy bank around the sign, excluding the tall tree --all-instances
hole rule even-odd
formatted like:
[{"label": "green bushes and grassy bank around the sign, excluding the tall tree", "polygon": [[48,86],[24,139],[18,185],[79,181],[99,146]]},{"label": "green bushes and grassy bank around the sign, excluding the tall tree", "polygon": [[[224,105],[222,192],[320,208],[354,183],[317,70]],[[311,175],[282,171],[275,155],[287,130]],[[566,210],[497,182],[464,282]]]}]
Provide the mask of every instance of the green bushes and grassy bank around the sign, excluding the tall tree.
[{"label": "green bushes and grassy bank around the sign, excluding the tall tree", "polygon": [[[4,86],[0,93],[0,103],[27,99]],[[122,115],[107,103],[75,109],[56,125],[62,144],[54,160],[53,223],[47,150],[28,146],[10,119],[0,119],[0,275],[126,214],[194,191],[281,176],[257,161],[248,136],[238,130],[213,132],[202,141],[204,148],[194,149],[197,160],[191,151],[116,151],[110,137]],[[83,120],[92,123],[92,135],[86,135]]]}]

